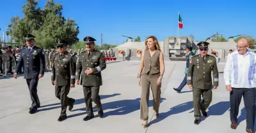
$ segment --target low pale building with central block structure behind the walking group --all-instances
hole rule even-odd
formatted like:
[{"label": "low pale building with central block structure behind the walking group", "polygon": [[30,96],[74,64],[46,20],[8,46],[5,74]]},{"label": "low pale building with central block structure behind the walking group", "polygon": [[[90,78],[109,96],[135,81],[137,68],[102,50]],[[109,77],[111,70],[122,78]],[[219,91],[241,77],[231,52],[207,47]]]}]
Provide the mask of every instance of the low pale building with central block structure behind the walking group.
[{"label": "low pale building with central block structure behind the walking group", "polygon": [[[164,41],[159,41],[161,51],[164,54],[164,59],[185,59],[185,49],[187,45],[192,46],[193,50],[198,50],[198,46],[196,45],[199,42],[194,42],[192,40],[192,37],[170,36],[164,38]],[[233,38],[230,38],[228,42],[212,42],[211,39],[208,39],[207,42],[210,43],[209,54],[211,54],[212,51],[216,51],[218,52],[220,59],[225,59],[230,49],[233,51],[236,50],[236,42]],[[129,39],[129,41],[116,46],[113,50],[116,53],[116,57],[122,57],[122,55],[118,55],[118,50],[125,50],[125,57],[131,57],[129,58],[131,60],[138,60],[140,59],[140,54],[137,54],[137,52],[140,50],[143,52],[145,50],[145,42],[132,42],[132,40]]]}]

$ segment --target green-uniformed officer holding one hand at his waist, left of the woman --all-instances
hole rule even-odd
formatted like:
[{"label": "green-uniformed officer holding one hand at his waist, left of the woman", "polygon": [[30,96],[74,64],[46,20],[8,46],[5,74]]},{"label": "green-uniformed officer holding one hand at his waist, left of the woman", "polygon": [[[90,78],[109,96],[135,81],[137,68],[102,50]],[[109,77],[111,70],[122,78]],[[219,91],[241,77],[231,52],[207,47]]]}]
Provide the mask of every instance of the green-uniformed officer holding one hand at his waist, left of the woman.
[{"label": "green-uniformed officer holding one hand at his waist, left of the woman", "polygon": [[76,83],[83,85],[84,100],[86,104],[87,116],[84,121],[94,117],[92,101],[95,102],[98,109],[98,115],[103,117],[102,104],[100,102],[99,90],[102,85],[101,71],[106,69],[104,55],[99,50],[95,50],[96,39],[87,36],[84,38],[86,50],[81,52],[76,64]]}]

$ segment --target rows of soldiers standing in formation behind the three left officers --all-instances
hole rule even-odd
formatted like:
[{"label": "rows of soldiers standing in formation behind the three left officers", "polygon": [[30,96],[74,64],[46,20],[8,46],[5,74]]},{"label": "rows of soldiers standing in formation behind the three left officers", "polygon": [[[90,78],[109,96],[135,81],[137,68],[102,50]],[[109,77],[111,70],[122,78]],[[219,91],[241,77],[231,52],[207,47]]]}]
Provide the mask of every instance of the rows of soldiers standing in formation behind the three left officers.
[{"label": "rows of soldiers standing in formation behind the three left officers", "polygon": [[[12,48],[12,46],[0,46],[0,76],[13,74],[13,69],[15,69],[17,62],[21,57],[20,52],[24,48],[26,49],[27,46],[16,46],[15,48]],[[67,52],[77,60],[79,59],[80,54],[84,52],[84,48],[78,49],[77,51],[70,49]],[[103,54],[105,61],[113,62],[116,60],[116,55],[113,50],[100,50],[100,52]],[[44,49],[44,53],[45,71],[52,71],[53,60],[58,53],[58,49]],[[24,66],[21,66],[17,73],[23,74]]]}]

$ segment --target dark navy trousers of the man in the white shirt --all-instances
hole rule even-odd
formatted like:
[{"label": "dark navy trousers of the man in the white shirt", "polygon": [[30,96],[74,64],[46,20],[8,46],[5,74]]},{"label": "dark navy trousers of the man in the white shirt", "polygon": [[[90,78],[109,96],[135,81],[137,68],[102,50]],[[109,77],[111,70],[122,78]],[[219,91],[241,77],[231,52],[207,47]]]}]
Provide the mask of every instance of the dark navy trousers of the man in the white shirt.
[{"label": "dark navy trousers of the man in the white shirt", "polygon": [[256,88],[232,88],[232,92],[230,92],[230,120],[232,123],[237,123],[237,115],[242,96],[246,109],[246,128],[253,130],[255,123]]}]

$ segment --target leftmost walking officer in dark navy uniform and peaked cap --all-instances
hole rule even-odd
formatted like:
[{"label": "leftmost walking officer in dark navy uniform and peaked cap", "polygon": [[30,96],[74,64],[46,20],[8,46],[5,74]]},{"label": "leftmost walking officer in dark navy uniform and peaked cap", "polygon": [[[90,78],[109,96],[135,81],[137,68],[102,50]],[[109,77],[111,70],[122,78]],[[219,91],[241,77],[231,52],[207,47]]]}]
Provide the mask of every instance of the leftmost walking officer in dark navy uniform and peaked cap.
[{"label": "leftmost walking officer in dark navy uniform and peaked cap", "polygon": [[17,72],[19,68],[24,66],[24,78],[27,81],[30,97],[32,101],[31,108],[29,108],[29,113],[36,113],[37,109],[40,108],[40,101],[37,95],[37,85],[39,78],[44,76],[45,69],[45,56],[44,50],[35,46],[35,36],[31,34],[26,34],[27,48],[21,50],[20,55],[22,56],[17,62],[15,68],[14,78],[17,78]]}]

